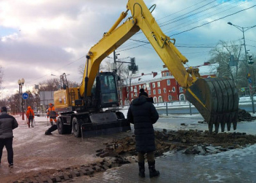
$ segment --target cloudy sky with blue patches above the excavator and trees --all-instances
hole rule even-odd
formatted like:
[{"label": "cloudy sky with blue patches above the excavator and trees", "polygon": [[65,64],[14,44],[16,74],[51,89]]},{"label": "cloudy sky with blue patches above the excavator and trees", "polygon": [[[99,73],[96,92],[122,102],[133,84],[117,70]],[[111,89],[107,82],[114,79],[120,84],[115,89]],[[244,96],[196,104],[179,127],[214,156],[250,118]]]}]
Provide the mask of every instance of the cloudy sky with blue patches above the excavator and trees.
[{"label": "cloudy sky with blue patches above the excavator and trees", "polygon": [[[127,0],[0,0],[0,66],[2,96],[39,82],[69,74],[81,83],[78,67],[89,49],[107,32]],[[230,26],[256,25],[256,0],[144,0],[163,32],[189,59],[189,66],[207,61],[219,40],[239,41],[242,31]],[[128,14],[130,15],[130,12]],[[245,31],[246,49],[256,53],[256,28]],[[141,31],[132,39],[147,41]],[[135,57],[139,72],[159,71],[163,62],[150,44],[128,40],[116,51],[118,58]],[[142,45],[142,46],[141,46]],[[137,47],[137,48],[136,48]],[[113,57],[113,54],[109,55]],[[107,58],[112,61],[112,59]],[[129,61],[129,59],[125,59]],[[0,96],[0,97],[2,97]]]}]

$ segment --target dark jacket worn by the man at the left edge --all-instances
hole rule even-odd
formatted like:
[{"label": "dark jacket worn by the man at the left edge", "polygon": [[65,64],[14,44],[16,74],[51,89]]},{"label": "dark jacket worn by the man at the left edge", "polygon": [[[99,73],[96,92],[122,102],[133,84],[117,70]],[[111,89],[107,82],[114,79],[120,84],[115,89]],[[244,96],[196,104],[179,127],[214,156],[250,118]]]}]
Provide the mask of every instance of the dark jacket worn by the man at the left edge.
[{"label": "dark jacket worn by the man at the left edge", "polygon": [[12,130],[18,127],[17,120],[8,115],[6,112],[2,112],[0,115],[0,139],[12,138]]}]

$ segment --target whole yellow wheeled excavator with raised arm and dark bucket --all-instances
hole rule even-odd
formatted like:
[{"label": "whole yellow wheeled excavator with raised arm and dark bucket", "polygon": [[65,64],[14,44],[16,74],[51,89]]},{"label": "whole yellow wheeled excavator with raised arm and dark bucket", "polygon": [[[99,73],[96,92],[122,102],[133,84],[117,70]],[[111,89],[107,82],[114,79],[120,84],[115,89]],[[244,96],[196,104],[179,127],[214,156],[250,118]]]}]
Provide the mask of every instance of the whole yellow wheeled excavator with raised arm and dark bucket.
[{"label": "whole yellow wheeled excavator with raised arm and dark bucket", "polygon": [[[187,58],[174,46],[175,39],[166,36],[143,0],[128,0],[126,11],[86,55],[85,72],[80,87],[70,88],[62,76],[62,89],[54,92],[55,109],[59,111],[59,134],[91,136],[130,130],[124,115],[118,111],[117,77],[111,72],[99,73],[104,58],[142,30],[176,81],[186,89],[186,98],[209,124],[209,131],[224,132],[233,123],[236,129],[238,92],[230,78],[202,78],[198,68],[185,69]],[[152,9],[152,10],[151,10]],[[150,11],[151,10],[151,11]],[[131,12],[123,24],[118,25]]]}]

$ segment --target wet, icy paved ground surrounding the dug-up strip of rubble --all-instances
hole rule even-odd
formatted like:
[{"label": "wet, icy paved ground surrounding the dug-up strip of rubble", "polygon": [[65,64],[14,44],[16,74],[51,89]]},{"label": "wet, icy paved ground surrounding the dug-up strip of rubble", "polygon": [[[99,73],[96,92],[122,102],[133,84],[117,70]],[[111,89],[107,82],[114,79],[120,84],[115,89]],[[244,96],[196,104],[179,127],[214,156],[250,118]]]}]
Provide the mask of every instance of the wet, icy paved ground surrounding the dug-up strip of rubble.
[{"label": "wet, icy paved ground surrounding the dug-up strip of rubble", "polygon": [[[36,118],[36,121],[44,118]],[[24,121],[14,130],[14,161],[12,172],[8,172],[6,151],[0,167],[0,183],[2,176],[13,176],[18,173],[28,175],[42,169],[54,169],[69,165],[87,164],[96,161],[96,149],[104,147],[109,141],[107,136],[86,138],[84,141],[71,135],[58,135],[53,132],[45,136],[49,127],[47,121],[36,123],[34,128],[27,128]],[[200,124],[200,115],[169,116],[160,118],[155,129],[200,129],[206,130],[207,124]],[[181,123],[185,125],[181,126]],[[242,122],[237,125],[241,132],[256,134],[256,122]],[[119,134],[120,135],[120,134]],[[113,135],[114,138],[120,136]],[[125,134],[124,134],[125,135]],[[126,134],[127,135],[127,134]],[[75,183],[256,183],[256,145],[244,149],[231,150],[212,155],[185,155],[181,152],[166,154],[156,158],[156,168],[160,171],[157,178],[149,178],[146,164],[146,177],[138,176],[138,164],[125,164],[108,169],[106,172],[95,173],[94,177],[82,176],[72,179]]]}]

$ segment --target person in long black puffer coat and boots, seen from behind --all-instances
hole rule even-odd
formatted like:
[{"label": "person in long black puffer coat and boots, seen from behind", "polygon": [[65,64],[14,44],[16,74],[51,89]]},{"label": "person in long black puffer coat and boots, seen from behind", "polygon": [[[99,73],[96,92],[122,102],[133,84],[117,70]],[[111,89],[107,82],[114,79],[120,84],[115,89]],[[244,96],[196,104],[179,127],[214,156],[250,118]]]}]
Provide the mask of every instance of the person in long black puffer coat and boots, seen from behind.
[{"label": "person in long black puffer coat and boots, seen from behind", "polygon": [[148,94],[143,88],[139,90],[139,97],[135,98],[128,109],[127,120],[134,124],[134,134],[136,142],[136,151],[138,152],[139,176],[145,177],[145,157],[149,164],[149,177],[156,177],[160,172],[155,169],[154,151],[155,134],[153,124],[159,118],[159,114],[152,104],[149,102]]}]

